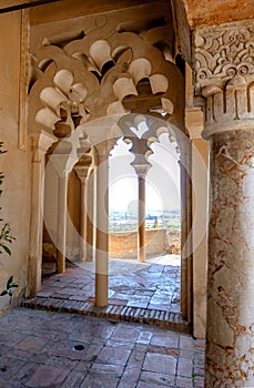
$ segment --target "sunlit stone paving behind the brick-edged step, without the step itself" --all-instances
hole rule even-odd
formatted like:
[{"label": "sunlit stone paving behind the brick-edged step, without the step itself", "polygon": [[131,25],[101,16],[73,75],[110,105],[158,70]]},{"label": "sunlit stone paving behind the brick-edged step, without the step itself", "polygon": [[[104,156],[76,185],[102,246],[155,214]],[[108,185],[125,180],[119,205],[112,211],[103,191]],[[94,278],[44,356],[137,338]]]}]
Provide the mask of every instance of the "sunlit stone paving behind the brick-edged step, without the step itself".
[{"label": "sunlit stone paving behind the brick-edged step, without the step itself", "polygon": [[[94,263],[69,263],[63,275],[49,276],[52,263],[44,263],[40,297],[92,300]],[[180,257],[164,255],[146,263],[110,259],[109,297],[114,305],[180,313]]]}]

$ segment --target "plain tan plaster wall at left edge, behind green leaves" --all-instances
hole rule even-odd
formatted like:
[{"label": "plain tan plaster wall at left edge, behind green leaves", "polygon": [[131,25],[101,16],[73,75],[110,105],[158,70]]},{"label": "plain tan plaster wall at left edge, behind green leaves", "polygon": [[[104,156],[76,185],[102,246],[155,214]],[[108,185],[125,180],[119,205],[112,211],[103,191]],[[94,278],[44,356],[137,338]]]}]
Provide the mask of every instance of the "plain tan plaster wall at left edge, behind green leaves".
[{"label": "plain tan plaster wall at left edge, behind green leaves", "polygon": [[[19,284],[12,303],[26,286],[29,247],[30,155],[18,149],[19,76],[20,76],[20,12],[0,16],[0,141],[8,150],[0,159],[0,170],[6,178],[2,185],[1,215],[10,222],[17,237],[11,245],[12,256],[0,255],[0,290],[13,275]],[[0,312],[10,307],[10,297],[0,298]]]}]

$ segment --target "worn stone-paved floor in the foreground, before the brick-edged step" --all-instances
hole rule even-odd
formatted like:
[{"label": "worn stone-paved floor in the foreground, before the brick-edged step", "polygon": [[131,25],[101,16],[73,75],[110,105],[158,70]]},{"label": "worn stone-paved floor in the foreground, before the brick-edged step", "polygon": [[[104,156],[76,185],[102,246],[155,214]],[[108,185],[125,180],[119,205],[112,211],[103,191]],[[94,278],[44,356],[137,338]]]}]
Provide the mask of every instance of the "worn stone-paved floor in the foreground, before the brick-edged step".
[{"label": "worn stone-paved floor in the foreground, before the brick-edged step", "polygon": [[189,335],[26,308],[0,325],[0,388],[203,387],[204,341]]}]

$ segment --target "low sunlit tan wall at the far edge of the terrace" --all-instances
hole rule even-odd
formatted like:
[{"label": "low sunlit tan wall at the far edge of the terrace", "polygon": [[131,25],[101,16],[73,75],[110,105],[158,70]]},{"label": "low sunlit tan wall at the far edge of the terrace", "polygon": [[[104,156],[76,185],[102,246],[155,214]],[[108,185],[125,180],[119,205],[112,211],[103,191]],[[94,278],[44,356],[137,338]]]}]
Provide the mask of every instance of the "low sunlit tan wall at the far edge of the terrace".
[{"label": "low sunlit tan wall at the far edge of the terrace", "polygon": [[[158,255],[163,253],[180,254],[179,229],[151,229],[146,231],[146,254]],[[110,233],[110,257],[129,258],[136,257],[138,232]]]}]

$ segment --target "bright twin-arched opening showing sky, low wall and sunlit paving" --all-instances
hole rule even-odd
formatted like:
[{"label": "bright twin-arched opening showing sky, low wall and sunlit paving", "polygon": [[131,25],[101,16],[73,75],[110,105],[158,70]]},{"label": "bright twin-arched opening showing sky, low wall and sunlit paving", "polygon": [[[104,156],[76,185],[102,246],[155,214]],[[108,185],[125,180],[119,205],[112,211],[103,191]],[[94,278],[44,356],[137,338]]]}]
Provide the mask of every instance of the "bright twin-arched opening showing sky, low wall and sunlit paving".
[{"label": "bright twin-arched opening showing sky, low wall and sunlit paving", "polygon": [[[131,144],[111,152],[110,293],[128,307],[180,313],[181,198],[176,143],[162,133],[151,145],[145,176],[145,262],[138,259],[139,191]],[[156,280],[155,280],[156,279]]]}]

